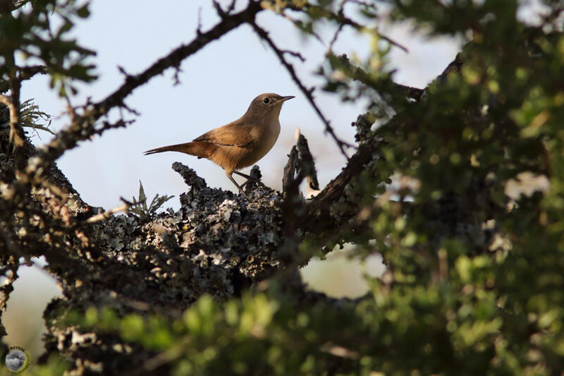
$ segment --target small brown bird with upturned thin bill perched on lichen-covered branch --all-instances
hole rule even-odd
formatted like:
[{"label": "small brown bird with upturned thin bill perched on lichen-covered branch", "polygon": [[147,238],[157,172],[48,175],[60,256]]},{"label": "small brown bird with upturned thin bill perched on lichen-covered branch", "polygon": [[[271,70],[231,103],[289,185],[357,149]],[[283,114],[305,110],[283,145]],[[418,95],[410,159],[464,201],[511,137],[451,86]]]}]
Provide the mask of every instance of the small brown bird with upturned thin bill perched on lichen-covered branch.
[{"label": "small brown bird with upturned thin bill perched on lichen-covered branch", "polygon": [[[240,119],[212,129],[192,142],[157,147],[147,150],[145,155],[160,152],[183,152],[200,158],[207,158],[219,164],[225,174],[243,192],[243,188],[235,181],[232,174],[245,178],[251,177],[240,173],[239,169],[255,164],[264,157],[276,143],[280,134],[278,115],[282,104],[293,96],[282,97],[274,93],[261,94],[252,102],[247,112]],[[243,183],[245,186],[247,182]]]}]

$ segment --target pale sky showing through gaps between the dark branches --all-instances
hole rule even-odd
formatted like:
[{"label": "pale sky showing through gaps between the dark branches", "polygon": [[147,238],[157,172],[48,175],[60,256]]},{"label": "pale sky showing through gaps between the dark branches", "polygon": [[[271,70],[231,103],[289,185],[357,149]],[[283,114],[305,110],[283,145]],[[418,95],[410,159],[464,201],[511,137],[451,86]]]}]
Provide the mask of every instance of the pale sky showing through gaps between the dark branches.
[{"label": "pale sky showing through gaps between the dark branches", "polygon": [[[225,1],[221,3],[225,4]],[[139,73],[178,45],[189,43],[195,37],[199,18],[202,30],[212,27],[219,18],[210,4],[208,0],[161,0],[158,3],[92,1],[92,14],[78,23],[75,37],[83,46],[97,51],[93,62],[99,79],[90,85],[80,85],[79,95],[72,99],[72,103],[81,104],[87,97],[97,101],[116,90],[123,83],[118,66],[130,74]],[[305,63],[291,60],[306,85],[321,82],[314,71],[324,59],[331,38],[328,30],[319,30],[325,39],[321,43],[305,40],[288,20],[272,13],[259,14],[258,23],[271,32],[271,38],[279,47],[298,51],[307,59]],[[415,35],[408,24],[392,26],[382,22],[379,30],[409,50],[405,53],[394,48],[389,56],[391,68],[397,70],[394,80],[403,85],[425,87],[446,68],[460,49],[456,40],[429,40]],[[345,30],[334,50],[338,54],[362,59],[369,53],[370,40],[352,30]],[[89,205],[106,210],[119,206],[121,196],[126,199],[137,196],[139,181],[142,181],[149,200],[155,193],[175,195],[164,206],[177,210],[180,207],[178,196],[188,187],[171,169],[171,164],[176,161],[195,169],[209,186],[236,192],[223,170],[212,162],[174,152],[145,157],[143,152],[154,147],[189,142],[212,128],[238,119],[250,101],[263,92],[295,96],[283,105],[278,142],[258,162],[267,185],[281,188],[283,166],[294,143],[296,128],[300,128],[309,140],[321,186],[329,183],[345,165],[345,159],[333,140],[324,135],[324,126],[317,114],[273,52],[250,27],[238,28],[221,40],[212,42],[184,61],[180,68],[179,85],[174,85],[174,72],[169,70],[137,88],[126,99],[126,104],[140,113],[140,116],[126,115],[135,119],[135,123],[81,142],[59,159],[59,168]],[[63,115],[66,103],[49,89],[46,77],[38,76],[23,83],[21,96],[22,102],[34,98],[41,111],[54,116],[51,122],[53,131],[66,127],[67,119]],[[321,90],[316,90],[315,97],[338,136],[353,142],[354,129],[350,124],[364,112],[362,106],[342,104],[336,97]],[[48,133],[39,131],[39,136],[33,136],[32,142],[42,145],[50,139]],[[352,151],[349,153],[352,154]],[[381,262],[376,263],[381,265]],[[311,275],[320,274],[322,279],[327,274],[327,266],[320,268],[314,262],[310,265],[314,269]],[[360,276],[362,269],[358,265],[352,269],[350,265],[348,267],[349,275]],[[10,335],[8,343],[15,345],[21,344],[23,332],[13,329],[13,323],[21,321],[22,312],[31,314],[33,311],[35,316],[32,317],[36,318],[32,320],[40,320],[44,305],[58,291],[54,281],[38,267],[24,267],[19,274],[13,300],[11,298],[8,303],[8,312],[4,316]],[[311,277],[307,281],[313,279]],[[358,283],[362,284],[362,281]],[[44,290],[38,289],[38,286]],[[330,292],[331,286],[324,291]],[[18,296],[24,297],[20,299],[22,301],[36,303],[37,308],[18,305]]]}]

